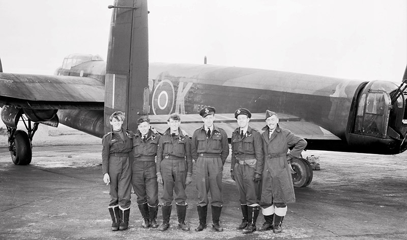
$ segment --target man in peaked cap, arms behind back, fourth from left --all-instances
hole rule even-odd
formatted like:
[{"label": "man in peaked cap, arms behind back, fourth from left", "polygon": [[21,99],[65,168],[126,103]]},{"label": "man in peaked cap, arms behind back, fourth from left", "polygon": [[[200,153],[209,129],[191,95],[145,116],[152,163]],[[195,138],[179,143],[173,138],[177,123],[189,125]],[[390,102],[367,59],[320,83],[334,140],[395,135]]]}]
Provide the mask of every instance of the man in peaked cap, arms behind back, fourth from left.
[{"label": "man in peaked cap, arms behind back, fourth from left", "polygon": [[219,225],[222,210],[222,172],[226,157],[229,155],[229,144],[226,132],[214,125],[215,108],[207,106],[199,111],[203,126],[192,135],[191,153],[196,161],[196,189],[198,190],[197,210],[199,225],[195,231],[202,231],[207,226],[208,192],[211,191],[212,227],[223,231]]}]

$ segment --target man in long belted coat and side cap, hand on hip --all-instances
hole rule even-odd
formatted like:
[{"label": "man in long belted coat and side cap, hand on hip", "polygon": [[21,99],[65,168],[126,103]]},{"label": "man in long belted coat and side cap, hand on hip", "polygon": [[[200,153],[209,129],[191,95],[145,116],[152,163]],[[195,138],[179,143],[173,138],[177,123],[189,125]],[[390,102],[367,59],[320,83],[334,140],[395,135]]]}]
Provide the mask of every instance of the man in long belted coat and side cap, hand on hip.
[{"label": "man in long belted coat and side cap, hand on hip", "polygon": [[[307,146],[304,139],[287,129],[280,128],[278,121],[277,114],[267,110],[267,125],[261,134],[265,161],[260,206],[266,222],[258,230],[273,229],[274,233],[282,232],[281,224],[287,212],[287,203],[296,200],[288,161],[293,157],[301,157],[302,150]],[[293,147],[293,150],[287,154],[289,147]]]}]

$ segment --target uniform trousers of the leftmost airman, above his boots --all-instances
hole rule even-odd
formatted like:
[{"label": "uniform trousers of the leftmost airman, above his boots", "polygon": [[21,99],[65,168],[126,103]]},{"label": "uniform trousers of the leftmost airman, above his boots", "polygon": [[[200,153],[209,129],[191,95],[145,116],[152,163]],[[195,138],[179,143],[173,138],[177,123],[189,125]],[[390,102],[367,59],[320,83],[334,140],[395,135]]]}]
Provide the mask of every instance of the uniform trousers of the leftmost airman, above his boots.
[{"label": "uniform trousers of the leftmost airman, above his boots", "polygon": [[129,157],[109,157],[110,202],[109,206],[119,205],[123,209],[130,207],[131,168]]}]

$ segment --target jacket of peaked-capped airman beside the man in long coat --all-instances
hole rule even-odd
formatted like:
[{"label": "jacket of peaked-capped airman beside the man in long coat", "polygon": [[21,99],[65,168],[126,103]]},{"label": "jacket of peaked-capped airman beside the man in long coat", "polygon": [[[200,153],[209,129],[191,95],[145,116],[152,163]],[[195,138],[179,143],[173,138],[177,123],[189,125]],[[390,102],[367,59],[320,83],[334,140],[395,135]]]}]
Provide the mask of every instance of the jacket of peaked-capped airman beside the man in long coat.
[{"label": "jacket of peaked-capped airman beside the man in long coat", "polygon": [[232,132],[231,138],[232,158],[230,169],[235,169],[235,164],[238,159],[236,156],[245,158],[246,154],[254,155],[256,162],[256,173],[263,173],[264,153],[263,153],[263,140],[258,131],[252,129],[250,126],[247,128],[246,134],[243,138],[240,136],[240,127]]}]

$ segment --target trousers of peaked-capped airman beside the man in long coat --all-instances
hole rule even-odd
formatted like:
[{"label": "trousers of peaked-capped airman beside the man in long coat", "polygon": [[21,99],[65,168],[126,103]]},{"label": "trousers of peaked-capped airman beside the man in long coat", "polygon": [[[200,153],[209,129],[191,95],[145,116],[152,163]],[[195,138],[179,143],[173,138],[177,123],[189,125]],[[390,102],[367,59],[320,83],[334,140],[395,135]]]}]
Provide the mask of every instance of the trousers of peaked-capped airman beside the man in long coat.
[{"label": "trousers of peaked-capped airman beside the man in long coat", "polygon": [[259,182],[255,182],[254,168],[248,165],[235,165],[235,182],[239,193],[240,204],[254,206],[259,202]]}]

